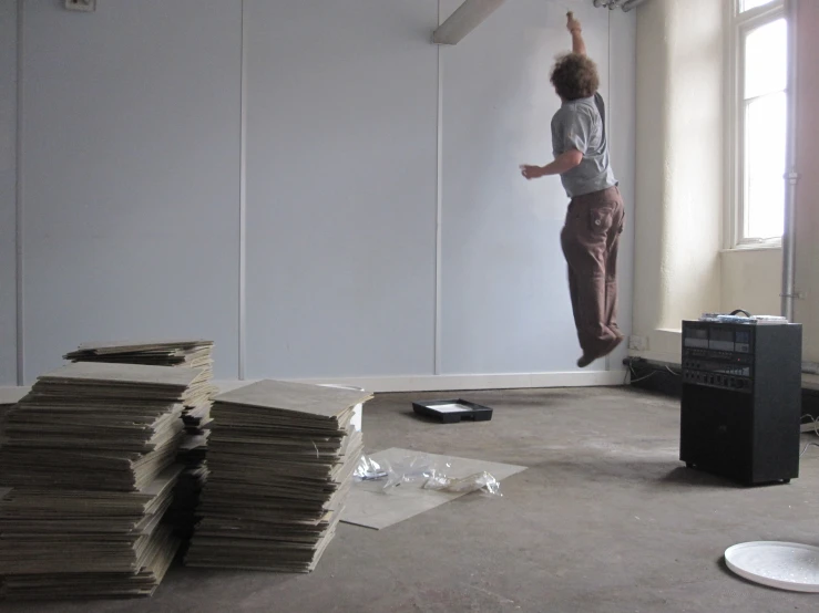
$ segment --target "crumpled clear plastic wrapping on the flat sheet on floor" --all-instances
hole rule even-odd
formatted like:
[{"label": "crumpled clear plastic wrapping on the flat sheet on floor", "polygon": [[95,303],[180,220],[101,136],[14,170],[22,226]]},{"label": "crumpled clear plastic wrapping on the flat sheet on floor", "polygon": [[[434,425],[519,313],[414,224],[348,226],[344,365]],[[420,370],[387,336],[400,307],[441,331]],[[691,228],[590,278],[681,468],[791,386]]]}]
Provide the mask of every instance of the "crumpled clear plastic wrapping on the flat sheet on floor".
[{"label": "crumpled clear plastic wrapping on the flat sheet on floor", "polygon": [[491,474],[481,471],[455,478],[449,476],[452,468],[451,458],[423,453],[405,454],[398,459],[380,461],[362,455],[355,478],[357,481],[382,481],[380,486],[385,492],[405,484],[416,484],[422,489],[451,493],[482,490],[492,496],[502,496],[500,484]]}]

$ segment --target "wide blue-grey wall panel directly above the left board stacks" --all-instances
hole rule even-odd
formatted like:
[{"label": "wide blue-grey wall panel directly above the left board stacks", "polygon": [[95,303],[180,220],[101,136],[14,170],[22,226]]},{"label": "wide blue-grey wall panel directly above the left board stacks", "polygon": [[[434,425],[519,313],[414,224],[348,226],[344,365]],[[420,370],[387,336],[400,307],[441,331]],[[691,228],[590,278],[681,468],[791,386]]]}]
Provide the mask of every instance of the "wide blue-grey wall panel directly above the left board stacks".
[{"label": "wide blue-grey wall panel directly above the left board stacks", "polygon": [[238,4],[24,7],[25,381],[112,337],[209,337],[235,373]]}]

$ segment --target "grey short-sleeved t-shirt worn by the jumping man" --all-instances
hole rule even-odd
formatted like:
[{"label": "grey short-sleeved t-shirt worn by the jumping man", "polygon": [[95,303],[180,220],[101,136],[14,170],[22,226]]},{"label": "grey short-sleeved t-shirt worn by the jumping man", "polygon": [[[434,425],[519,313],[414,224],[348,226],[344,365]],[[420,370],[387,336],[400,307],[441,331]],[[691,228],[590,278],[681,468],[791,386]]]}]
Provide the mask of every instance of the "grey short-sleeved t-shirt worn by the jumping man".
[{"label": "grey short-sleeved t-shirt worn by the jumping man", "polygon": [[603,97],[594,94],[564,102],[552,117],[552,150],[554,156],[577,149],[583,160],[561,181],[570,198],[600,191],[617,185],[608,163]]}]

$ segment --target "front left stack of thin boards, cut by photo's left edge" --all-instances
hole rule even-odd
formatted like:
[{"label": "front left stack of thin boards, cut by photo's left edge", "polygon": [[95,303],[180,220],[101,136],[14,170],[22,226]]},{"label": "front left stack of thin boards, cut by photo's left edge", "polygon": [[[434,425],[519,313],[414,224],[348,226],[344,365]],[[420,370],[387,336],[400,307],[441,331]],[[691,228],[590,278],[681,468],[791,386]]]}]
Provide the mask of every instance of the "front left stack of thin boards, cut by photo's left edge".
[{"label": "front left stack of thin boards, cut by photo's left edge", "polygon": [[7,598],[150,595],[178,547],[162,516],[191,368],[78,363],[41,376],[8,414],[0,448]]}]

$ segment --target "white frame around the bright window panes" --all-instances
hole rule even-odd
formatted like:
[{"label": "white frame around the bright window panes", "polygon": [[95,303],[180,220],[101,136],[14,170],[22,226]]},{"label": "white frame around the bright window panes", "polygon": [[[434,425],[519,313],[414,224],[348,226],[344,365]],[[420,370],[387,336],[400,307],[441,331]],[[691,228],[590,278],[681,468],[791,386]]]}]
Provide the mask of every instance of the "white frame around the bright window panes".
[{"label": "white frame around the bright window panes", "polygon": [[[726,249],[780,249],[782,239],[743,238],[743,159],[744,159],[744,113],[739,94],[745,90],[745,65],[740,44],[744,32],[758,28],[769,21],[788,18],[786,0],[775,0],[769,4],[739,12],[740,0],[725,2],[727,23],[726,40],[726,83],[725,96],[725,247]],[[786,95],[791,95],[786,90]],[[782,178],[785,181],[785,178]]]}]

